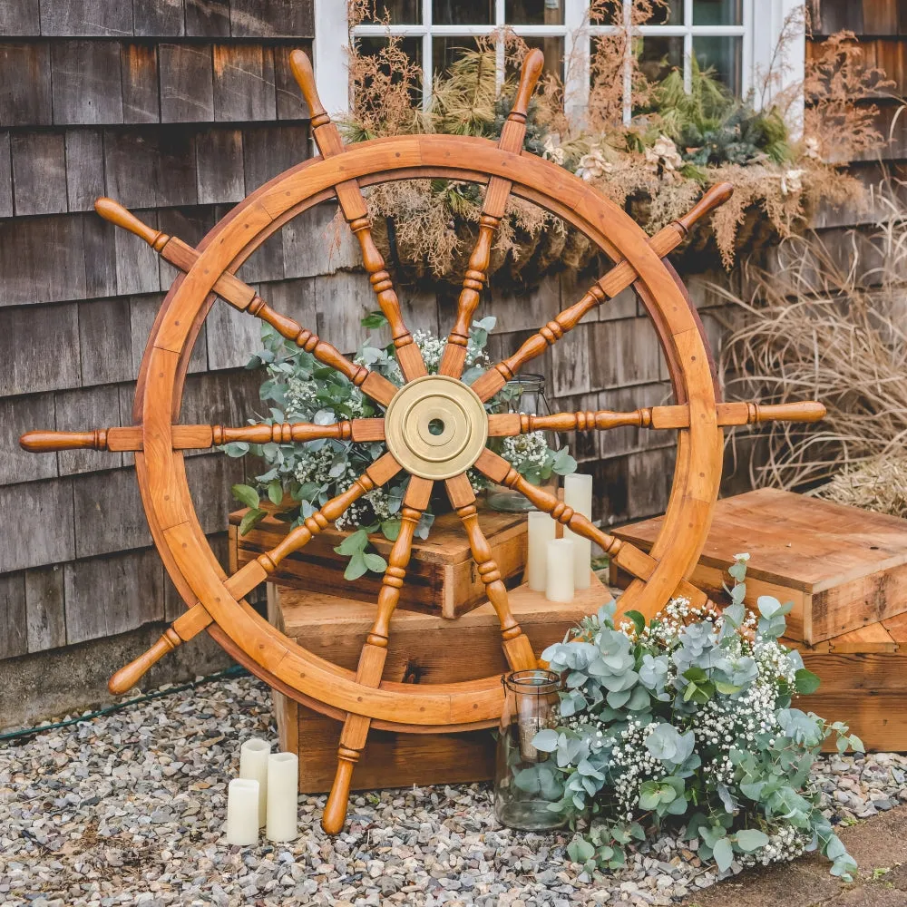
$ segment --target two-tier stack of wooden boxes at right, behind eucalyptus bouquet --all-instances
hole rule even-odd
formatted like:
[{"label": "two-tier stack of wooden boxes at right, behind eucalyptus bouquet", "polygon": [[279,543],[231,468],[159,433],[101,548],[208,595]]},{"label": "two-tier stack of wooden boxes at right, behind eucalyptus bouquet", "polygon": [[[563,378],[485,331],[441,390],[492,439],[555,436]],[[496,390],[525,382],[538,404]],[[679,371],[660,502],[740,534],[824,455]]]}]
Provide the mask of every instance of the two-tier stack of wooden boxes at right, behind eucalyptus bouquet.
[{"label": "two-tier stack of wooden boxes at right, behind eucalyptus bouquet", "polygon": [[[648,550],[658,524],[614,534]],[[775,489],[726,498],[693,584],[727,600],[727,568],[745,551],[746,604],[793,601],[785,642],[822,679],[798,706],[848,723],[867,749],[907,752],[907,521]],[[627,581],[612,569],[612,585]]]}]

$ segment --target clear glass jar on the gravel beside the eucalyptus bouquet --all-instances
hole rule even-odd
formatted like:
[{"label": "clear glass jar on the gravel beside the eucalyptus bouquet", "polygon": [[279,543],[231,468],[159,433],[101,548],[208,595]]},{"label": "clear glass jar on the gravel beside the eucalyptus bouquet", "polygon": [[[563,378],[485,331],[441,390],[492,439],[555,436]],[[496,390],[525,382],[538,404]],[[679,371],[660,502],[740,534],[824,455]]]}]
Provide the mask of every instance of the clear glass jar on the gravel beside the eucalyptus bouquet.
[{"label": "clear glass jar on the gravel beside the eucalyptus bouquet", "polygon": [[541,668],[501,678],[504,707],[494,770],[494,814],[527,832],[560,828],[567,819],[549,809],[561,799],[561,774],[550,755],[532,746],[539,731],[560,723],[561,676]]}]

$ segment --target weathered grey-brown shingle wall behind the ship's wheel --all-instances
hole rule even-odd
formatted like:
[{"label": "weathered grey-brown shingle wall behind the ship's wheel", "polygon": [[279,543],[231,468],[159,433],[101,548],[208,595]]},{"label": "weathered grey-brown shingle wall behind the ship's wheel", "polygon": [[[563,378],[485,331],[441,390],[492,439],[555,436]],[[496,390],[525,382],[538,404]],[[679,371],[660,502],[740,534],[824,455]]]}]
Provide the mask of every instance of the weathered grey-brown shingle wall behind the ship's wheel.
[{"label": "weathered grey-brown shingle wall behind the ship's wheel", "polygon": [[[340,0],[337,0],[340,2]],[[0,0],[0,658],[171,619],[180,602],[141,512],[129,455],[34,455],[36,426],[129,424],[151,321],[172,271],[92,211],[110,194],[196,242],[229,207],[310,153],[288,48],[313,34],[311,0]],[[249,260],[263,296],[344,350],[374,308],[356,258],[332,258],[331,210],[315,212]],[[713,346],[723,312],[692,280]],[[527,295],[493,294],[493,356],[511,352],[582,292],[569,275]],[[446,331],[455,300],[404,290],[411,327]],[[215,306],[187,382],[186,421],[241,424],[258,407],[244,371],[258,325]],[[537,360],[552,408],[632,409],[668,398],[655,333],[629,293]],[[596,516],[663,511],[667,433],[584,436]],[[223,552],[229,484],[242,465],[188,462],[206,532]]]}]

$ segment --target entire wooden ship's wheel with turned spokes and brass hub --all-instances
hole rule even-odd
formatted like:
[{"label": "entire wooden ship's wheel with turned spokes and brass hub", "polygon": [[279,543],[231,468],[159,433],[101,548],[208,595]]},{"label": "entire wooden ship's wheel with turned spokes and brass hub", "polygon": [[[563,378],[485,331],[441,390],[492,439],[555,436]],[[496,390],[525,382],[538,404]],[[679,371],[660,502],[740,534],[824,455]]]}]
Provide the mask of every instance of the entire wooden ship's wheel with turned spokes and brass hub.
[{"label": "entire wooden ship's wheel with turned spokes and brass hub", "polygon": [[[454,684],[392,683],[382,679],[390,620],[410,559],[414,531],[434,483],[443,482],[463,521],[488,599],[501,621],[502,646],[512,669],[534,668],[537,657],[508,606],[507,590],[479,525],[476,499],[466,476],[474,467],[494,483],[524,494],[532,504],[573,532],[594,541],[635,579],[620,599],[621,610],[651,616],[674,595],[703,604],[706,595],[685,579],[697,562],[717,499],[722,461],[722,427],[767,419],[814,421],[815,403],[759,406],[717,401],[713,366],[702,327],[666,256],[693,223],[722,201],[732,187],[709,190],[685,217],[649,238],[629,216],[561,167],[522,152],[526,111],[543,58],[532,51],[522,66],[513,109],[500,141],[453,135],[404,135],[344,147],[336,126],[318,100],[306,54],[291,64],[311,111],[319,157],[292,168],[242,201],[200,242],[197,249],[141,223],[110,199],[96,210],[131,230],[182,273],[174,280],[151,329],[141,362],[130,427],[84,432],[29,432],[21,444],[44,452],[92,448],[135,453],[136,475],[151,535],[188,610],[141,658],[110,682],[124,692],[164,654],[206,629],[230,655],[271,687],[344,721],[336,779],[322,824],[336,833],[344,824],[353,768],[369,727],[412,733],[454,732],[489,727],[500,716],[499,677]],[[401,317],[394,284],[375,247],[362,190],[388,180],[466,180],[486,187],[479,235],[463,278],[456,320],[447,338],[439,374],[427,374],[422,355]],[[580,230],[614,266],[512,355],[463,382],[463,363],[473,313],[486,280],[495,231],[514,195],[551,211]],[[352,362],[326,340],[279,314],[235,276],[249,255],[290,219],[319,202],[336,199],[362,249],[377,302],[394,336],[405,384]],[[551,416],[487,414],[485,402],[535,356],[553,346],[580,319],[632,285],[658,332],[667,359],[674,405],[631,413],[610,411]],[[210,307],[219,298],[268,322],[327,366],[336,368],[380,407],[382,418],[330,425],[257,424],[229,428],[179,424],[180,404],[192,346]],[[528,483],[510,463],[486,446],[489,437],[536,430],[604,430],[620,425],[676,430],[677,465],[668,512],[650,553],[603,532],[557,497]],[[305,442],[318,438],[383,441],[387,452],[349,489],[328,501],[275,548],[227,576],[210,550],[190,499],[183,451],[233,441],[252,444]],[[335,521],[362,495],[397,473],[411,476],[401,510],[399,536],[390,552],[377,602],[375,623],[356,672],[338,668],[285,637],[244,600],[267,580],[280,561]]]}]

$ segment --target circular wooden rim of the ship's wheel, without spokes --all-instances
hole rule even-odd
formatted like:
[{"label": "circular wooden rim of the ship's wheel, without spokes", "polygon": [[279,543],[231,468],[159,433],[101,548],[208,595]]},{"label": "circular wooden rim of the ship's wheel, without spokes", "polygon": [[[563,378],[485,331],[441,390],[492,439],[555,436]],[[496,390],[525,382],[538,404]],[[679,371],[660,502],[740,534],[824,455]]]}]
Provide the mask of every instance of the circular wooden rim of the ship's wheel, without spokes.
[{"label": "circular wooden rim of the ship's wheel, without spokes", "polygon": [[[614,260],[629,261],[638,290],[656,315],[659,341],[675,396],[689,406],[689,427],[678,432],[674,484],[663,530],[652,549],[657,566],[646,581],[634,580],[621,599],[625,609],[663,605],[697,561],[717,497],[721,430],[707,347],[696,319],[668,269],[649,248],[639,226],[581,180],[548,161],[501,151],[492,142],[458,137],[407,136],[348,148],[339,158],[313,159],[287,171],[249,196],[200,244],[200,258],[168,294],[141,366],[136,414],[141,413],[143,453],[136,454],[142,502],[152,536],[183,597],[200,600],[224,639],[247,666],[308,705],[351,712],[388,725],[451,729],[488,723],[500,714],[497,676],[468,683],[412,685],[383,681],[362,688],[353,672],[337,668],[284,637],[225,588],[219,567],[192,507],[183,456],[173,450],[171,419],[179,412],[184,364],[224,271],[233,271],[264,239],[322,200],[334,187],[356,179],[368,185],[387,179],[453,178],[512,180],[513,194],[551,210],[596,242]],[[377,161],[377,166],[375,164]],[[470,161],[464,170],[456,161]],[[329,338],[328,338],[329,339]],[[658,610],[657,608],[654,610]],[[219,635],[219,634],[215,634]],[[269,667],[267,667],[269,666]]]}]

